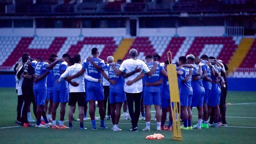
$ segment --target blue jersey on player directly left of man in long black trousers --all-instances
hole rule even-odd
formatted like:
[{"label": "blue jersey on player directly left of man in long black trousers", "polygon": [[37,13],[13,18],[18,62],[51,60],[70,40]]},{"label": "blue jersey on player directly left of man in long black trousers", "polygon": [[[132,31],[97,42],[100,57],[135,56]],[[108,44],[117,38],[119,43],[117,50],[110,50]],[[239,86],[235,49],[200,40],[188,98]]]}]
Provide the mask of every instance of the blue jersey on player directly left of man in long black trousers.
[{"label": "blue jersey on player directly left of man in long black trousers", "polygon": [[[119,67],[120,67],[120,65],[117,64],[117,63],[115,63],[115,66],[116,66],[117,69],[119,69]],[[123,76],[122,75],[121,76],[116,76],[116,74],[115,74],[111,65],[104,65],[104,66],[102,66],[102,69],[108,71],[109,79],[116,80],[116,84],[113,85],[113,84],[110,83],[109,88],[124,91]]]}]

